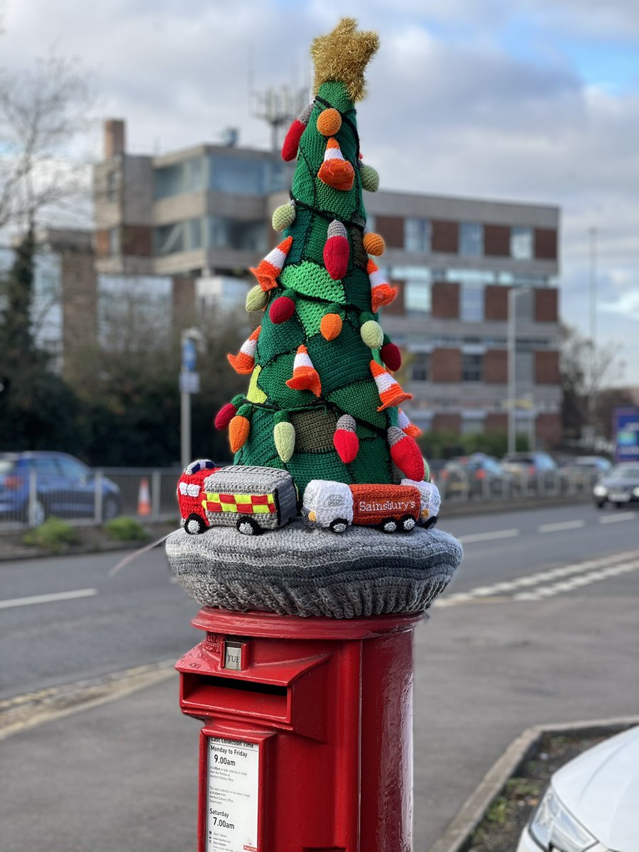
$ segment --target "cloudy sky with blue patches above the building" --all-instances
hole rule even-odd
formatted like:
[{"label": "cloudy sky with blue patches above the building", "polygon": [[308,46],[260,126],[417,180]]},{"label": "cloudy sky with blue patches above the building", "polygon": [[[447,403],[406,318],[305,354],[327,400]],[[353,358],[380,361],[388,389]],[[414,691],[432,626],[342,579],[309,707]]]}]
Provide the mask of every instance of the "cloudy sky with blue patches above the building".
[{"label": "cloudy sky with blue patches above the building", "polygon": [[596,228],[598,342],[639,384],[636,0],[5,0],[0,66],[78,57],[134,153],[227,126],[268,147],[249,69],[257,89],[308,83],[344,14],[381,38],[358,122],[382,186],[560,205],[561,312],[586,333]]}]

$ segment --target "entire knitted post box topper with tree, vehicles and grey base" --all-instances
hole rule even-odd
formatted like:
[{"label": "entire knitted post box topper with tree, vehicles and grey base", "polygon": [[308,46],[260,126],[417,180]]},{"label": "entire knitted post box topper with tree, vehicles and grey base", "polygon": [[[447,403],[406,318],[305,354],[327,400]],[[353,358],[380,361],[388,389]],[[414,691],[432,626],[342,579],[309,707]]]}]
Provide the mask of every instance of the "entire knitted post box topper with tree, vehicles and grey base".
[{"label": "entire knitted post box topper with tree, vehicles and grey base", "polygon": [[[311,49],[314,98],[282,147],[296,170],[290,201],[273,213],[281,238],[251,269],[246,308],[261,319],[228,356],[249,386],[215,420],[228,430],[233,475],[203,479],[201,506],[167,543],[181,583],[209,606],[414,612],[461,559],[458,542],[432,528],[439,494],[400,408],[411,398],[393,375],[400,350],[380,323],[397,291],[379,261],[383,238],[366,227],[362,191],[375,192],[378,176],[360,153],[354,108],[376,49],[377,34],[350,19]],[[235,491],[221,485],[228,476]],[[293,493],[281,513],[279,495]]]}]

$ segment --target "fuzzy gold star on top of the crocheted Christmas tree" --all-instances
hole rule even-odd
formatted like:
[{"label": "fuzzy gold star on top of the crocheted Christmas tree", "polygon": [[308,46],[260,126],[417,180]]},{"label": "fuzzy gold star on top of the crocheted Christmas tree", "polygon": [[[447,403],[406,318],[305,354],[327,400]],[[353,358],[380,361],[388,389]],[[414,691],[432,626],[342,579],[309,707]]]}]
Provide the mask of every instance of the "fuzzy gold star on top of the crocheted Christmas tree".
[{"label": "fuzzy gold star on top of the crocheted Christmas tree", "polygon": [[315,95],[322,83],[341,80],[351,101],[364,97],[364,71],[379,47],[379,37],[377,32],[357,32],[356,28],[354,18],[343,18],[333,32],[314,39]]}]

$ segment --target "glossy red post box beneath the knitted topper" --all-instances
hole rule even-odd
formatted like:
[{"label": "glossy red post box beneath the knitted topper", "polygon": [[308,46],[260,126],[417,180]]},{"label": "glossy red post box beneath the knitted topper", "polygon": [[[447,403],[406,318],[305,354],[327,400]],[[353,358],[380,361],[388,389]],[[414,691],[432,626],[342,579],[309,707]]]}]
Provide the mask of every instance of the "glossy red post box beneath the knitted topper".
[{"label": "glossy red post box beneath the knitted topper", "polygon": [[204,721],[199,852],[411,852],[421,618],[199,612],[176,664]]}]

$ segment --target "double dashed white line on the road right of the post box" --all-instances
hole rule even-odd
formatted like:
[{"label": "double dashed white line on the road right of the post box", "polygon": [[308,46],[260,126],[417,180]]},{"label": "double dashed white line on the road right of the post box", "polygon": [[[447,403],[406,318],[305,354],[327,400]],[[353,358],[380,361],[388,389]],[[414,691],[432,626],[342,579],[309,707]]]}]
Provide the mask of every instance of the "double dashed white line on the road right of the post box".
[{"label": "double dashed white line on the road right of the post box", "polygon": [[[639,567],[639,550],[625,550],[622,553],[615,553],[610,556],[602,556],[599,559],[589,559],[584,562],[573,562],[570,565],[562,565],[558,568],[550,568],[549,571],[540,571],[535,574],[527,574],[523,577],[515,577],[511,580],[504,580],[500,583],[492,583],[486,586],[476,586],[475,589],[470,589],[465,592],[458,592],[452,595],[445,595],[438,601],[435,601],[435,607],[454,607],[462,603],[472,603],[481,598],[492,596],[503,596],[503,601],[533,601],[541,600],[544,596],[548,596],[544,589],[556,589],[557,591],[567,591],[571,588],[577,588],[581,585],[594,583],[597,579],[606,579],[606,577],[616,576],[616,573],[626,573],[628,570],[635,570],[635,567],[627,568],[632,565]],[[617,569],[620,569],[619,571]],[[614,572],[614,573],[613,573]],[[564,579],[574,576],[573,579],[565,583],[555,583],[554,585],[544,586],[541,584],[548,581]],[[588,578],[587,580],[585,578]],[[572,585],[571,585],[572,584]],[[540,585],[539,589],[531,592],[521,591],[519,594],[512,596],[504,596],[504,592],[517,591],[528,589],[531,586]],[[558,589],[561,585],[561,589]],[[539,596],[538,596],[539,594]],[[556,594],[556,591],[550,594]]]}]

